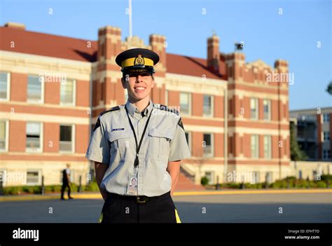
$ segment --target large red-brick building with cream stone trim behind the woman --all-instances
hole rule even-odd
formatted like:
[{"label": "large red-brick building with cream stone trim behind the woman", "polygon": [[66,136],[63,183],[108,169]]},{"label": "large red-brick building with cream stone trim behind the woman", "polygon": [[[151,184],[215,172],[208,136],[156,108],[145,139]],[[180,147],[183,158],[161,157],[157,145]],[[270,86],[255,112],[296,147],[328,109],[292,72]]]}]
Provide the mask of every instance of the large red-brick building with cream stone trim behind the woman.
[{"label": "large red-brick building with cream stone trim behind the woman", "polygon": [[167,53],[157,34],[147,45],[137,36],[122,41],[116,27],[100,28],[97,41],[15,23],[0,27],[0,36],[0,171],[22,173],[22,184],[39,184],[42,175],[58,183],[66,163],[74,181],[88,177],[91,128],[100,112],[127,98],[115,57],[133,47],[160,55],[152,100],[180,110],[192,153],[182,174],[196,183],[202,176],[216,183],[289,175],[288,83],[267,80],[288,73],[283,60],[272,68],[221,53],[215,35],[207,39],[207,59]]}]

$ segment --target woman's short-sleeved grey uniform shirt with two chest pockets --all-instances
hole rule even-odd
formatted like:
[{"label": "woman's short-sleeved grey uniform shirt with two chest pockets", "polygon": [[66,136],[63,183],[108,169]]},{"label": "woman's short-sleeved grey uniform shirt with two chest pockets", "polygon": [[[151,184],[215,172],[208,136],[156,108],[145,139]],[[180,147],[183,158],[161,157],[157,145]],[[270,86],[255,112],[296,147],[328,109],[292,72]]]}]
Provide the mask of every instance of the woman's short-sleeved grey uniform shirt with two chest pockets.
[{"label": "woman's short-sleeved grey uniform shirt with two chest pockets", "polygon": [[85,157],[109,165],[102,189],[110,193],[126,195],[129,177],[134,176],[136,144],[130,121],[141,139],[148,116],[151,114],[141,149],[137,168],[137,190],[139,196],[160,196],[171,189],[172,180],[167,172],[169,161],[191,156],[181,118],[161,104],[153,104],[140,112],[134,104],[113,107],[99,115]]}]

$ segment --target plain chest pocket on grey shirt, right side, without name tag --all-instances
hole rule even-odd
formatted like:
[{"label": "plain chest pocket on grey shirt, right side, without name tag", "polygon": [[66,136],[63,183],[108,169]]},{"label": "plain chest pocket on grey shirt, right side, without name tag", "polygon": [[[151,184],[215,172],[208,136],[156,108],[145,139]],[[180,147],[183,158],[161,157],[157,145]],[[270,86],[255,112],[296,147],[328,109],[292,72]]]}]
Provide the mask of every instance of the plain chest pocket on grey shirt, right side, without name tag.
[{"label": "plain chest pocket on grey shirt, right side, without name tag", "polygon": [[170,141],[173,135],[168,129],[151,128],[148,130],[149,151],[155,160],[165,160],[168,162],[170,155]]}]

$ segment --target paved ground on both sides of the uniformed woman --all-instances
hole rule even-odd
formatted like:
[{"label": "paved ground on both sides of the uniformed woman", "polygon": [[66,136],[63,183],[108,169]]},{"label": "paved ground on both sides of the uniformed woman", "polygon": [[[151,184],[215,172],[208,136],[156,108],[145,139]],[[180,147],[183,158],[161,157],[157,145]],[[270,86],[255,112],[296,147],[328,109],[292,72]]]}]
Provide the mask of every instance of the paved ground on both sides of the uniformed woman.
[{"label": "paved ground on both sides of the uniformed woman", "polygon": [[[174,196],[174,202],[182,222],[332,222],[331,193]],[[101,199],[4,202],[0,203],[0,223],[94,223],[102,204]]]}]

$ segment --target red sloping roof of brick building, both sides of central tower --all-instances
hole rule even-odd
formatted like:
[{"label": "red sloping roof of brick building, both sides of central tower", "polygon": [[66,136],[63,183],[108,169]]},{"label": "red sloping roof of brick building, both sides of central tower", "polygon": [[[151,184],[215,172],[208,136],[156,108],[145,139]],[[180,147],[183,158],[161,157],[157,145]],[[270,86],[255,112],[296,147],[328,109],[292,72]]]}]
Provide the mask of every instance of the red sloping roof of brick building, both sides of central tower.
[{"label": "red sloping roof of brick building, both sides of central tower", "polygon": [[[15,41],[14,48],[11,48],[11,41]],[[88,41],[90,40],[30,32],[20,28],[0,27],[0,50],[18,53],[95,62],[97,61],[97,41],[90,41],[91,48],[87,46]],[[225,74],[225,62],[221,60],[220,63],[221,74]],[[167,54],[167,72],[199,77],[205,74],[207,78],[226,79],[225,75],[221,77],[207,69],[206,59],[170,53]]]}]

